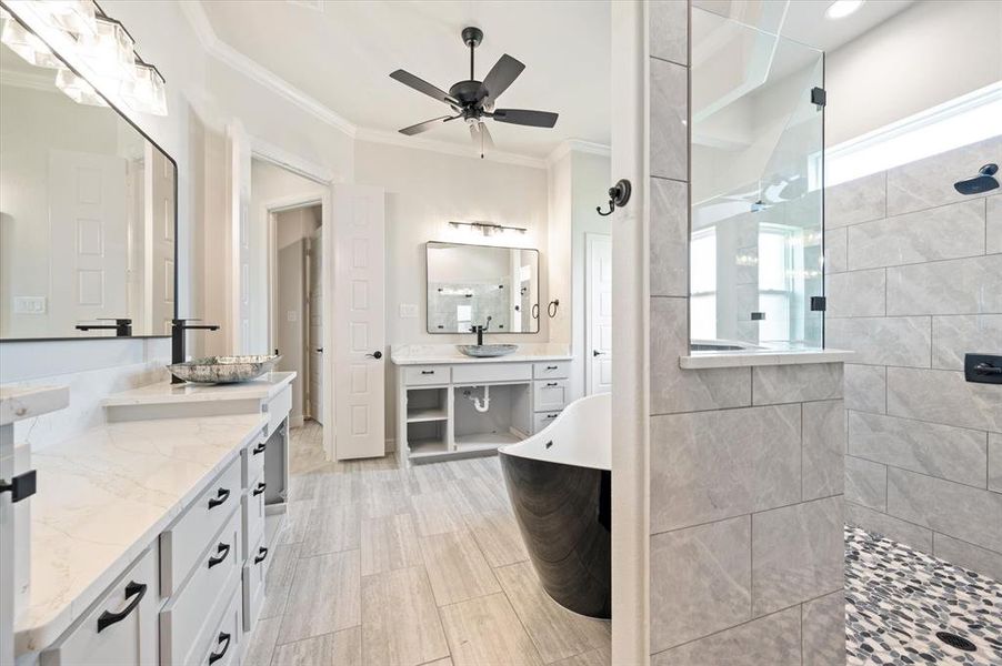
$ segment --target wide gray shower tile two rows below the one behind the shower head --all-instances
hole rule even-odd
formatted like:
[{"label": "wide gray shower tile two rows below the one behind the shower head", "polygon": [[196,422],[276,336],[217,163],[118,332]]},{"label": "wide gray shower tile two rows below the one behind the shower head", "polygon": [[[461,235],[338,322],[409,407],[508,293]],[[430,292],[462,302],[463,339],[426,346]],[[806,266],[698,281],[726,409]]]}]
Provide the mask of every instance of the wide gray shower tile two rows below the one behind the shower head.
[{"label": "wide gray shower tile two rows below the one behind the shower head", "polygon": [[888,314],[1002,312],[1002,254],[888,269]]}]

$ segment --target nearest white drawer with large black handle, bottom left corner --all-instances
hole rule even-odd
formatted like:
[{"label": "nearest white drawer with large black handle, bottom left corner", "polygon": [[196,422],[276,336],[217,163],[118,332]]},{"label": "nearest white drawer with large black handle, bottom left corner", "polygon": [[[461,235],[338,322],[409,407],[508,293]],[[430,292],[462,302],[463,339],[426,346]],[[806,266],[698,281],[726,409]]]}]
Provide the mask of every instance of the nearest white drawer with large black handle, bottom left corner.
[{"label": "nearest white drawer with large black handle, bottom left corner", "polygon": [[157,545],[39,656],[41,666],[157,664]]}]

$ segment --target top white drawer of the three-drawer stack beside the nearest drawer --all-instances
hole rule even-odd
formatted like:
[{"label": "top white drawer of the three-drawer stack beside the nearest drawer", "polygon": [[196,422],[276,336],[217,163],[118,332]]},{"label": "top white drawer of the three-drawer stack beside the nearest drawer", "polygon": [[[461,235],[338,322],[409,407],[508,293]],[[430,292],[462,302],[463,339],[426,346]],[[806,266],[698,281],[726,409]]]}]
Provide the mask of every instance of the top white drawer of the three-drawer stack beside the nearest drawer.
[{"label": "top white drawer of the three-drawer stack beside the nearest drawer", "polygon": [[196,559],[208,547],[209,539],[240,505],[240,458],[237,458],[160,535],[162,596],[168,597],[177,592]]}]

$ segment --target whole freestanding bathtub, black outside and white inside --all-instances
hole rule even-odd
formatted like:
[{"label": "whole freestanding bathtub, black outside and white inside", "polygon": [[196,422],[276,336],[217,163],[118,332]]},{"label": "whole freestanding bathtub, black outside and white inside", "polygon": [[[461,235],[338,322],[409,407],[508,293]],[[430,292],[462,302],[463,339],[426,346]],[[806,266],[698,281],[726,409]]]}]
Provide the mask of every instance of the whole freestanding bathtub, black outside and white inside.
[{"label": "whole freestanding bathtub, black outside and white inside", "polygon": [[532,565],[561,606],[609,619],[612,400],[577,400],[553,423],[499,450]]}]

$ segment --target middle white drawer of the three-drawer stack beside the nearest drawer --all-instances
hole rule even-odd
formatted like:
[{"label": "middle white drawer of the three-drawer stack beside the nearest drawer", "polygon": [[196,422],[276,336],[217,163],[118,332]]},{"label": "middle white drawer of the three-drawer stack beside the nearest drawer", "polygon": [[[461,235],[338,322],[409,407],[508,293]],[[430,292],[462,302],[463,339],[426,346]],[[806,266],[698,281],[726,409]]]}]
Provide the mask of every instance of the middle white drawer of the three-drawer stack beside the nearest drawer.
[{"label": "middle white drawer of the three-drawer stack beside the nearest drawer", "polygon": [[228,589],[240,579],[240,512],[231,512],[222,531],[199,554],[184,587],[160,613],[160,663],[162,666],[196,663],[204,653],[208,627],[219,625]]}]

